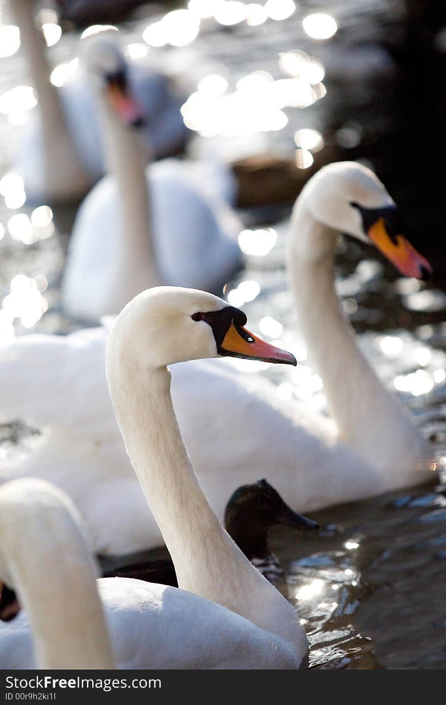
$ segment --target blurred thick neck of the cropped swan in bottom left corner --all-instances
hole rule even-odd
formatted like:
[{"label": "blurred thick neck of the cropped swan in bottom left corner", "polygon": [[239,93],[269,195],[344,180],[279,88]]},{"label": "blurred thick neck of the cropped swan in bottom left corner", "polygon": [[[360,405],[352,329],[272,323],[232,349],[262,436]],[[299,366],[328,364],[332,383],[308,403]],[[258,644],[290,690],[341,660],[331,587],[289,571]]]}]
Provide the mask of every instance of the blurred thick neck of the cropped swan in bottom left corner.
[{"label": "blurred thick neck of the cropped swan in bottom left corner", "polygon": [[72,518],[6,510],[0,564],[30,620],[37,668],[114,668],[93,559]]}]

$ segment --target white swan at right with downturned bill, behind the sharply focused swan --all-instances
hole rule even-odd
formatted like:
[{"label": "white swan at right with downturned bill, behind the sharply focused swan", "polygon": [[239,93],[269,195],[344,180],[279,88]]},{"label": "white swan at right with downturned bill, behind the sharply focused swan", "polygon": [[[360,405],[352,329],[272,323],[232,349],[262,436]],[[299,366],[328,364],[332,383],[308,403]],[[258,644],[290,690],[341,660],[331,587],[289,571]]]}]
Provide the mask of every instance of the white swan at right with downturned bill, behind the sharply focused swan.
[{"label": "white swan at right with downturned bill, behind the sharply focused swan", "polygon": [[[182,434],[221,521],[231,492],[259,476],[302,512],[435,477],[429,469],[432,449],[368,367],[333,293],[337,235],[323,222],[366,238],[357,207],[349,205],[355,200],[364,207],[390,204],[368,169],[328,166],[302,191],[290,228],[290,276],[299,309],[308,309],[301,312],[302,322],[333,419],[309,412],[303,402],[279,400],[273,384],[247,379],[229,365],[207,360],[172,368]],[[382,233],[381,238],[384,246]],[[404,241],[399,248],[390,255],[406,252],[413,267],[400,264],[402,271],[414,275],[419,265],[428,266]],[[1,417],[47,429],[35,453],[0,472],[6,479],[38,468],[73,498],[98,553],[125,553],[156,546],[161,536],[145,511],[109,404],[107,336],[105,329],[64,338],[25,336],[0,348]]]}]

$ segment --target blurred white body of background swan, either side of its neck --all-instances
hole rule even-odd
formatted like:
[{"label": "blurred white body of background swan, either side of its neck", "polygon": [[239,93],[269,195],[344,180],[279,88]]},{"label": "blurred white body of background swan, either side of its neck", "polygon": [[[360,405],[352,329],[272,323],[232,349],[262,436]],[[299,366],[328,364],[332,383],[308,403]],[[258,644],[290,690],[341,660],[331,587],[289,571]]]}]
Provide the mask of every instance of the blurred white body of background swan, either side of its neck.
[{"label": "blurred white body of background swan, either side of its neck", "polygon": [[[221,290],[242,265],[235,237],[242,226],[225,200],[209,197],[198,185],[206,176],[213,183],[228,183],[231,178],[218,164],[174,159],[145,169],[156,272],[144,256],[147,243],[140,242],[140,248],[131,241],[135,232],[132,224],[123,222],[116,181],[106,176],[94,186],[76,215],[68,246],[63,278],[66,312],[76,319],[98,321],[102,315],[116,314],[129,293],[135,295],[157,281]],[[149,238],[149,225],[144,233]],[[128,248],[124,257],[132,259],[131,264],[118,256],[123,247]]]}]

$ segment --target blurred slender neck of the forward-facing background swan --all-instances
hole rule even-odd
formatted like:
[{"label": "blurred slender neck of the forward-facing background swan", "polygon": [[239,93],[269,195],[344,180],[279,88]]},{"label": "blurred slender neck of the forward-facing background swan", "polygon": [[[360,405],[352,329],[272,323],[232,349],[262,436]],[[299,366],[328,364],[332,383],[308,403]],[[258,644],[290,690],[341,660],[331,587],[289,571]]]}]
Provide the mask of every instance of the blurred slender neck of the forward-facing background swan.
[{"label": "blurred slender neck of the forward-facing background swan", "polygon": [[141,144],[137,128],[125,125],[103,94],[99,95],[99,109],[104,126],[107,168],[116,179],[120,204],[121,226],[118,228],[113,266],[118,268],[116,290],[122,290],[124,282],[127,287],[120,306],[122,308],[144,289],[161,283],[151,236],[151,211],[145,173],[147,147]]}]

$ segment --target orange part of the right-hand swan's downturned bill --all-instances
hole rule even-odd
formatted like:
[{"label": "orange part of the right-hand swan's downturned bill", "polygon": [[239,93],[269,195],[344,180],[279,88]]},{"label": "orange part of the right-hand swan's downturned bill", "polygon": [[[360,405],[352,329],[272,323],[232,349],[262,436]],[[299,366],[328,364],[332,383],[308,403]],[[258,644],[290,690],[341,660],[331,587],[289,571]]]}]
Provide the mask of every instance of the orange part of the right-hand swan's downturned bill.
[{"label": "orange part of the right-hand swan's downturned bill", "polygon": [[432,267],[426,257],[420,255],[415,247],[412,247],[409,243],[409,240],[406,240],[403,235],[396,235],[394,238],[390,237],[385,228],[384,218],[381,217],[376,223],[373,223],[368,228],[367,235],[378,247],[378,250],[392,264],[395,264],[401,274],[414,276],[417,279],[423,279],[428,274],[432,274]]}]

